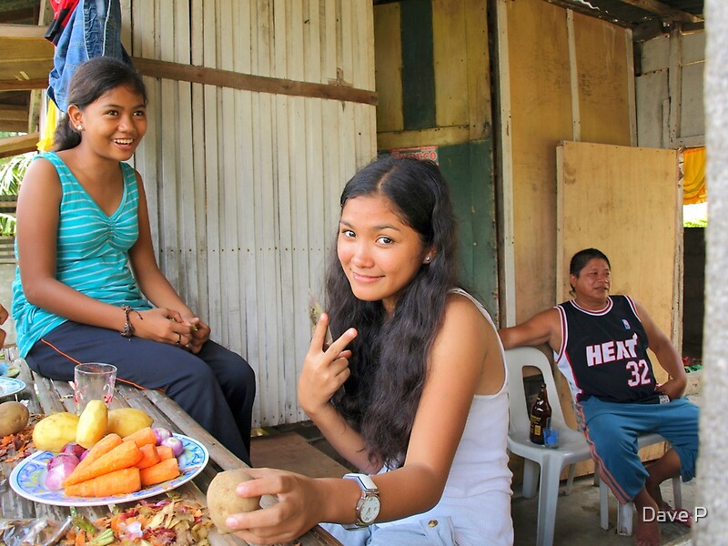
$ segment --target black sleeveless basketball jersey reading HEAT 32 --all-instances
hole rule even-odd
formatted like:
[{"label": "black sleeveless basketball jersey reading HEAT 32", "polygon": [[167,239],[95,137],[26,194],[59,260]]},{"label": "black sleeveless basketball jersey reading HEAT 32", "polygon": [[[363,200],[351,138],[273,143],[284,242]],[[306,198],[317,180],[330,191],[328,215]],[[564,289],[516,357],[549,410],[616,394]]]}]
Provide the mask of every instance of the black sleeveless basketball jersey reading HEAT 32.
[{"label": "black sleeveless basketball jersey reading HEAT 32", "polygon": [[601,311],[581,308],[573,300],[556,308],[561,315],[561,352],[556,364],[576,399],[659,400],[647,356],[647,334],[632,298],[611,296]]}]

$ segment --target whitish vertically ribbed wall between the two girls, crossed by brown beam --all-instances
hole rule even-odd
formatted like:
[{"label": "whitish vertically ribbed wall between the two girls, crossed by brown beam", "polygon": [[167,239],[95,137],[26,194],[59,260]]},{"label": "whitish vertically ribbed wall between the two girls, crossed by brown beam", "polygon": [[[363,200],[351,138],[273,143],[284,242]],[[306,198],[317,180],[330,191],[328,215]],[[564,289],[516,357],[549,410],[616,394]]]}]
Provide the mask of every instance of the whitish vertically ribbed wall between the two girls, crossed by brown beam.
[{"label": "whitish vertically ribbed wall between the two girls, crossed by brown beam", "polygon": [[[126,0],[132,55],[374,90],[369,0]],[[339,193],[376,155],[375,106],[146,77],[136,154],[160,265],[258,373],[254,425],[306,419],[298,370]],[[150,363],[151,364],[151,363]]]}]

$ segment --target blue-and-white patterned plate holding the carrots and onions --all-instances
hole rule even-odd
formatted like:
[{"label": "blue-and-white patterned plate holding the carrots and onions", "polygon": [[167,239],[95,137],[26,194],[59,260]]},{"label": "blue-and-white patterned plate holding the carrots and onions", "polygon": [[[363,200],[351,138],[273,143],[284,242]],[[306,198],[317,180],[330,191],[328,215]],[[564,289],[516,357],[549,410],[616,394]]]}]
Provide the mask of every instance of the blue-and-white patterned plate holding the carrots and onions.
[{"label": "blue-and-white patterned plate holding the carrots and onions", "polygon": [[103,506],[105,504],[147,499],[147,497],[153,497],[154,495],[173,490],[183,483],[187,483],[187,481],[192,480],[207,465],[209,453],[207,453],[205,446],[197,440],[192,440],[181,434],[175,434],[174,436],[182,440],[184,447],[182,454],[177,457],[180,475],[174,480],[157,483],[157,485],[138,490],[136,493],[112,495],[110,497],[68,497],[64,494],[63,490],[46,490],[46,467],[48,460],[54,455],[51,451],[36,451],[30,457],[19,462],[10,474],[10,487],[18,495],[25,497],[25,499],[43,504],[54,504],[56,506]]}]

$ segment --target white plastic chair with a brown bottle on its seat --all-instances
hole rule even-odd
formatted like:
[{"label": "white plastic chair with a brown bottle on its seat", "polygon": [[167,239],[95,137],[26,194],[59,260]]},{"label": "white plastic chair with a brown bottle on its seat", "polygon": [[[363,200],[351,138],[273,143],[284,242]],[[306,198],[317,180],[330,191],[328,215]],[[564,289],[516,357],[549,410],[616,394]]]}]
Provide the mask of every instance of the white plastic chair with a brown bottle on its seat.
[{"label": "white plastic chair with a brown bottle on its seat", "polygon": [[[525,460],[522,489],[523,496],[527,499],[536,494],[536,479],[541,470],[536,546],[551,546],[556,521],[556,505],[559,501],[561,471],[567,465],[573,465],[581,460],[590,460],[591,451],[581,431],[572,430],[563,419],[549,359],[538,349],[520,347],[506,351],[506,366],[508,367],[511,416],[508,449]],[[541,370],[543,382],[546,383],[546,392],[551,403],[551,426],[559,430],[558,448],[546,448],[531,443],[529,440],[531,420],[528,415],[522,372],[522,369],[527,366]],[[571,492],[574,470],[574,467],[571,466],[566,486],[567,495]],[[606,505],[606,503],[604,504]]]}]

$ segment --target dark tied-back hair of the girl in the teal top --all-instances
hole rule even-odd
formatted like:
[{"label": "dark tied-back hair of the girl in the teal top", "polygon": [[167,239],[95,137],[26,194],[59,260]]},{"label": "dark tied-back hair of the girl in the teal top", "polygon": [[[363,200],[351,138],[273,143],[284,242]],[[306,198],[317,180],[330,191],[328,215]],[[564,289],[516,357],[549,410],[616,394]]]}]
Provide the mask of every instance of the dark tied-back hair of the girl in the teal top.
[{"label": "dark tied-back hair of the girl in the teal top", "polygon": [[[142,96],[144,104],[147,104],[147,87],[133,66],[115,57],[100,56],[88,59],[76,68],[71,78],[68,86],[68,105],[76,105],[83,110],[99,96],[118,86],[127,86]],[[56,126],[53,149],[59,152],[79,144],[81,144],[81,133],[76,130],[66,113]]]}]

